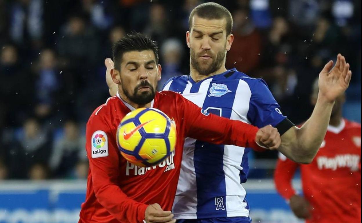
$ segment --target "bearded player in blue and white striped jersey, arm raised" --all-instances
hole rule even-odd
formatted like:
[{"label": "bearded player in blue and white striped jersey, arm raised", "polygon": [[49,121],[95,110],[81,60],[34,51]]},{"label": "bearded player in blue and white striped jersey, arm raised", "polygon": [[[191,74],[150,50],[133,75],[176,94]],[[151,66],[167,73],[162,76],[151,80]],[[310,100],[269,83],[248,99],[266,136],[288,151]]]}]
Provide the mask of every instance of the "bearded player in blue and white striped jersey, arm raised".
[{"label": "bearded player in blue and white striped jersey, arm raised", "polygon": [[[190,48],[190,75],[170,79],[164,90],[182,94],[205,112],[258,127],[272,125],[281,134],[278,150],[298,163],[310,163],[329,123],[334,100],[350,82],[349,64],[341,55],[319,74],[317,104],[308,121],[297,128],[283,116],[266,83],[236,69],[225,68],[233,35],[230,12],[216,3],[204,3],[190,14],[186,42]],[[111,66],[111,61],[106,60]],[[333,68],[332,68],[333,67]],[[110,86],[112,94],[112,87]],[[114,93],[113,93],[114,94]],[[179,223],[250,223],[242,184],[247,180],[249,148],[185,140],[181,173],[172,213]]]}]

